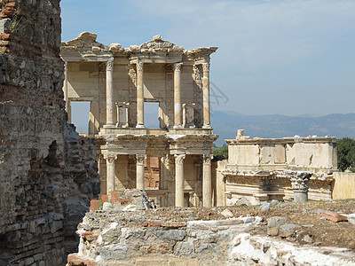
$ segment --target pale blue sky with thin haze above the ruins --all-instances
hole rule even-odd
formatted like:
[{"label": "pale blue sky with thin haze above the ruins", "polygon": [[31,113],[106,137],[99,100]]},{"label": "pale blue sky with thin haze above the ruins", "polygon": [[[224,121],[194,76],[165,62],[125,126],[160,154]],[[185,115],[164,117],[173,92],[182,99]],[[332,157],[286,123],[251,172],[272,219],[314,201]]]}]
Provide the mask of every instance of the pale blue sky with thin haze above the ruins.
[{"label": "pale blue sky with thin haze above the ruins", "polygon": [[353,0],[62,0],[61,8],[63,41],[90,31],[122,47],[154,35],[185,49],[218,46],[211,81],[228,101],[213,110],[355,113]]}]

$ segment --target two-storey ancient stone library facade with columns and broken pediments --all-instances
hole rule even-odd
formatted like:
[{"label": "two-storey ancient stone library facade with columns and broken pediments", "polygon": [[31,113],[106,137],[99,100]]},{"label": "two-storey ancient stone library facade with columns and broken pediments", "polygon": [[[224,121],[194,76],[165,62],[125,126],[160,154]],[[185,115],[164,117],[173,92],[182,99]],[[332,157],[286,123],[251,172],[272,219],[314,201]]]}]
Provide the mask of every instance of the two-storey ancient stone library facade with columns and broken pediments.
[{"label": "two-storey ancient stone library facade with columns and broken pediments", "polygon": [[[89,135],[98,140],[103,194],[146,189],[160,206],[211,207],[213,142],[209,60],[217,47],[185,50],[156,35],[129,48],[83,33],[62,43],[67,113],[90,101]],[[145,103],[159,105],[147,129]],[[145,160],[159,158],[159,189],[145,186]]]}]

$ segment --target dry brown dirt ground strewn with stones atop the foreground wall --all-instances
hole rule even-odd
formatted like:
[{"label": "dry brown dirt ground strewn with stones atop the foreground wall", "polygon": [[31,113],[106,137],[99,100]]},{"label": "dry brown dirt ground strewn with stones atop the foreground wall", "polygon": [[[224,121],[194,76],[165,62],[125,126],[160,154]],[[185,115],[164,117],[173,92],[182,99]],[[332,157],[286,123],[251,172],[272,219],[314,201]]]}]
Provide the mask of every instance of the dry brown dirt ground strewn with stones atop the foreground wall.
[{"label": "dry brown dirt ground strewn with stones atop the foreground wall", "polygon": [[[267,235],[267,218],[272,216],[288,217],[287,223],[296,223],[302,226],[302,231],[307,233],[314,246],[347,247],[355,251],[355,224],[349,222],[332,222],[320,217],[317,210],[331,210],[339,214],[355,214],[355,200],[335,201],[308,201],[305,203],[291,203],[283,206],[282,203],[274,205],[269,211],[259,210],[259,207],[223,207],[228,208],[236,217],[240,215],[259,215],[264,218],[263,226],[255,231],[262,236]],[[211,214],[212,215],[212,214]],[[212,217],[211,217],[212,218]],[[216,216],[216,218],[218,218]],[[277,237],[279,238],[279,237]],[[305,244],[302,240],[292,237],[286,239],[292,242]]]}]

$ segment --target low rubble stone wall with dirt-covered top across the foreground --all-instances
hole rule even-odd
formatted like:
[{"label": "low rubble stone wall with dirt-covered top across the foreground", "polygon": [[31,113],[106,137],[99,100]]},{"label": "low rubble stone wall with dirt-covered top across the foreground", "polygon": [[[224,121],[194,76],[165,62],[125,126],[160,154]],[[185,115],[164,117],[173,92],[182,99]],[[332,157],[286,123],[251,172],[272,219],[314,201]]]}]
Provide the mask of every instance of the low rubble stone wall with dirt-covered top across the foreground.
[{"label": "low rubble stone wall with dirt-covered top across the foreground", "polygon": [[318,214],[318,209],[353,213],[355,200],[274,202],[267,212],[259,206],[123,211],[136,205],[133,199],[141,203],[144,192],[112,198],[110,207],[91,211],[79,225],[79,253],[70,254],[68,265],[355,263],[355,226],[320,220]]}]

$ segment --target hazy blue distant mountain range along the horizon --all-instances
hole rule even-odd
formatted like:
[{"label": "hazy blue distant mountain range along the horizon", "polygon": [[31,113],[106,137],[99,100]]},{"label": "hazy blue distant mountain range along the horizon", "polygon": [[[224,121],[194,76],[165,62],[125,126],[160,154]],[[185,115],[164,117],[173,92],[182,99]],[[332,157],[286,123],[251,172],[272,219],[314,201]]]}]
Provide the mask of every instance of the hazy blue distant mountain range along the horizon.
[{"label": "hazy blue distant mountain range along the horizon", "polygon": [[323,116],[305,114],[287,116],[280,114],[244,115],[241,113],[214,111],[211,115],[214,133],[219,135],[216,145],[225,139],[233,139],[238,129],[245,129],[250,137],[324,137],[355,138],[355,113],[334,113]]}]

